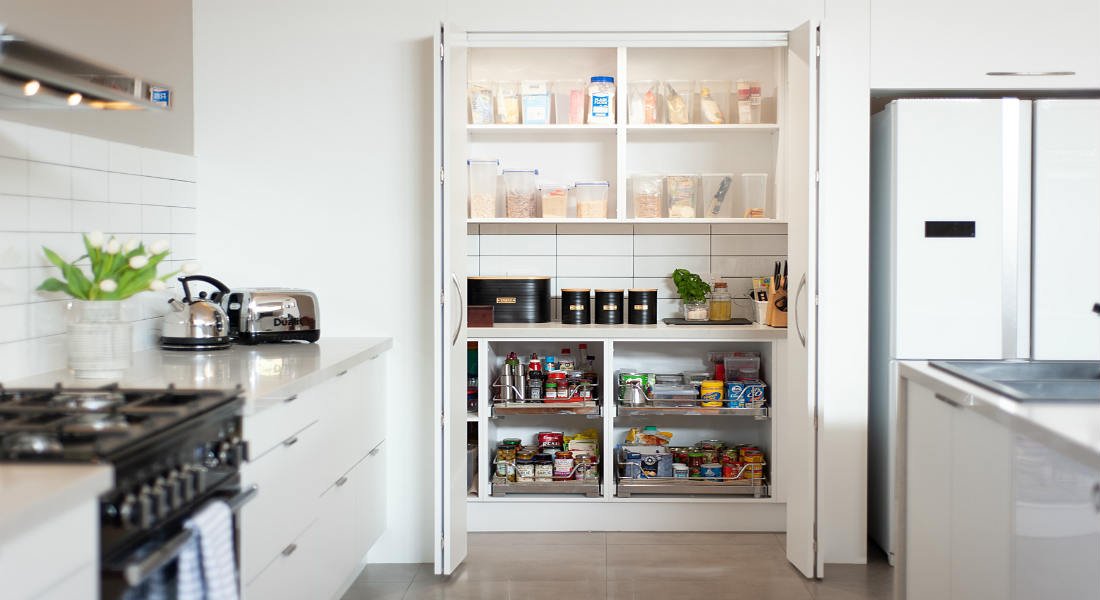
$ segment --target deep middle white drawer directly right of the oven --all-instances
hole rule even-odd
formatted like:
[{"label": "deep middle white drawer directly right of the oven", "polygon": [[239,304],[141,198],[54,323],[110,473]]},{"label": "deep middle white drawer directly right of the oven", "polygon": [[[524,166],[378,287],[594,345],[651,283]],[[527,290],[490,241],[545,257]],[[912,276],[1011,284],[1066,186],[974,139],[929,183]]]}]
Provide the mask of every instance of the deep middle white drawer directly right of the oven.
[{"label": "deep middle white drawer directly right of the oven", "polygon": [[317,424],[292,434],[241,470],[245,487],[260,494],[241,511],[241,565],[245,582],[255,578],[317,517],[323,487],[317,465],[323,461],[323,439]]}]

